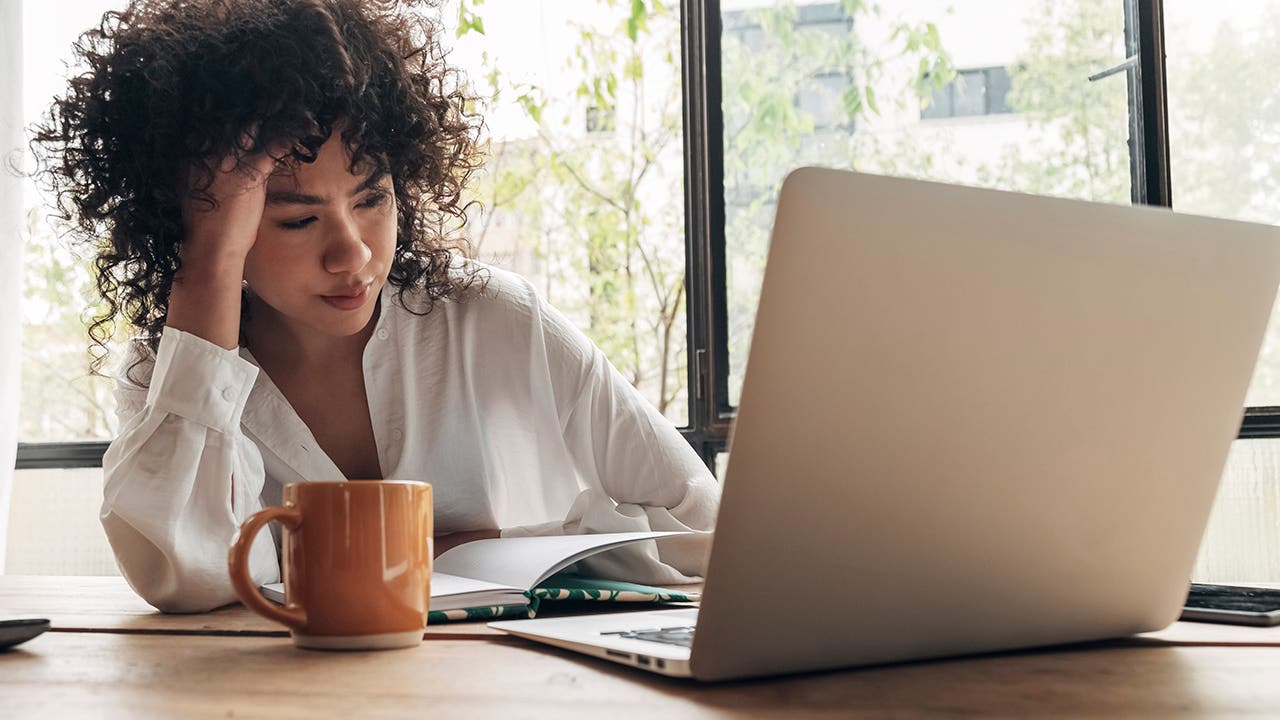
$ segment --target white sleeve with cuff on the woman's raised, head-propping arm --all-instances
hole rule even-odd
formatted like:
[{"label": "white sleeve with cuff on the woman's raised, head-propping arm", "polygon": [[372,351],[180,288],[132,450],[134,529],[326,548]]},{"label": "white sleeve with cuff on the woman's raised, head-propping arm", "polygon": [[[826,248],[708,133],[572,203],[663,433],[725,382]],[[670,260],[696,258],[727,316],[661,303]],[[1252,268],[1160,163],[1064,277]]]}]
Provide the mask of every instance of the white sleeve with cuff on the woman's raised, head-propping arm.
[{"label": "white sleeve with cuff on the woman's raised, head-propping arm", "polygon": [[[102,457],[100,518],[133,589],[166,612],[236,601],[227,551],[261,509],[261,454],[239,420],[259,369],[234,350],[165,328],[155,355],[133,341],[116,375],[120,430]],[[250,552],[256,582],[279,579],[269,534]]]}]

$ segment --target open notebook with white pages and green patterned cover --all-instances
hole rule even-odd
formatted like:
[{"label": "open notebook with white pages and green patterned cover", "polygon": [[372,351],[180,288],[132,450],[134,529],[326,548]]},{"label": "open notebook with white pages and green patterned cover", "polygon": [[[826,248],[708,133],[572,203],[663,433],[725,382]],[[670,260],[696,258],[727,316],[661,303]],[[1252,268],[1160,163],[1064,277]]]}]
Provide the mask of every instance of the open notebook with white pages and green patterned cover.
[{"label": "open notebook with white pages and green patterned cover", "polygon": [[[435,559],[429,621],[531,618],[540,600],[686,602],[696,593],[576,575],[556,575],[591,555],[680,532],[492,538],[460,544]],[[284,602],[284,583],[262,585]]]}]

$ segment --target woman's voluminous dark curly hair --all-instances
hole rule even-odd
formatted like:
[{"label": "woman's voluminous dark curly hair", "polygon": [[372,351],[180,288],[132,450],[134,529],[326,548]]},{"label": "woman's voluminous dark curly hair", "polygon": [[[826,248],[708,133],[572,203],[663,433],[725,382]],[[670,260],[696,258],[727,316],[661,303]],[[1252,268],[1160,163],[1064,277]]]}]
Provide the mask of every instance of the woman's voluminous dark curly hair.
[{"label": "woman's voluminous dark curly hair", "polygon": [[425,287],[426,314],[474,284],[477,270],[453,260],[468,255],[462,192],[484,123],[445,63],[433,13],[415,5],[134,0],[79,37],[88,67],[36,124],[32,147],[60,218],[95,254],[105,306],[88,327],[92,373],[120,318],[157,348],[183,193],[214,202],[207,190],[227,156],[283,146],[287,163],[314,161],[335,126],[352,168],[370,163],[393,181],[398,302],[408,309],[406,290]]}]

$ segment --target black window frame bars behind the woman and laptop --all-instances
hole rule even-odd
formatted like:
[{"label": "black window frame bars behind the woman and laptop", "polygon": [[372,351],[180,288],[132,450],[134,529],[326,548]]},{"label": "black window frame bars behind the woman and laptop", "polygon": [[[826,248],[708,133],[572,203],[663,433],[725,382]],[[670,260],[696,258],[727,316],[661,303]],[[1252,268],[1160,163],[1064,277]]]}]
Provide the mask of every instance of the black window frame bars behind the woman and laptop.
[{"label": "black window frame bars behind the woman and laptop", "polygon": [[[1123,0],[1134,204],[1172,206],[1162,0]],[[728,448],[728,304],[719,0],[681,0],[689,348],[686,441],[716,468]],[[1137,60],[1137,61],[1134,61]],[[1247,407],[1240,438],[1280,438],[1280,407]],[[15,468],[101,466],[106,442],[19,443]]]}]

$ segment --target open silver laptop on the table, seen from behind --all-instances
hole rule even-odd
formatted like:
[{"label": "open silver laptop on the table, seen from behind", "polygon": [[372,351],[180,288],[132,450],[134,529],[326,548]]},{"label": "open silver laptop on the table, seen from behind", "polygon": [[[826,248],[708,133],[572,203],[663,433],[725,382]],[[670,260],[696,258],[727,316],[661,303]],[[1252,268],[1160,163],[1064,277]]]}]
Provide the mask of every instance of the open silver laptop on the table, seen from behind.
[{"label": "open silver laptop on the table, seen from behind", "polygon": [[699,680],[1162,628],[1277,278],[1270,225],[797,170],[700,610],[493,626]]}]

